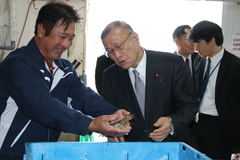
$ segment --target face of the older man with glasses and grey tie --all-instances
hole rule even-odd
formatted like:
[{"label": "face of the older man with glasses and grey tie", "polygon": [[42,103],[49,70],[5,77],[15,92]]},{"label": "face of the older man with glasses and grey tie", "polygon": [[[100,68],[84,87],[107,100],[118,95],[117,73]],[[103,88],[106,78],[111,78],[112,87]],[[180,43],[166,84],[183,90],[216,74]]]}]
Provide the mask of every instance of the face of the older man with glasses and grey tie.
[{"label": "face of the older man with glasses and grey tie", "polygon": [[[132,32],[130,34],[130,32],[126,29],[114,28],[102,40],[108,52],[111,52],[114,48],[121,48],[120,50],[114,49],[109,56],[123,69],[136,68],[143,56],[137,33]],[[121,46],[123,42],[124,44]]]}]

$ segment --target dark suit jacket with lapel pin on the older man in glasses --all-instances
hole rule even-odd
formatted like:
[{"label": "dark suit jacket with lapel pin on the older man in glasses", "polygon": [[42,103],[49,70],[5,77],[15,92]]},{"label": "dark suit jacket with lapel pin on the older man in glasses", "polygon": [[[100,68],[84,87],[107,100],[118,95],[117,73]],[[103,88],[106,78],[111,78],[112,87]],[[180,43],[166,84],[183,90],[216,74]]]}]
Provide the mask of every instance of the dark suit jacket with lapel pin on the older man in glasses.
[{"label": "dark suit jacket with lapel pin on the older man in glasses", "polygon": [[104,99],[135,115],[132,131],[126,141],[152,141],[149,133],[153,124],[163,116],[170,116],[174,135],[164,141],[181,141],[191,145],[189,123],[194,119],[197,106],[194,85],[182,57],[164,52],[146,50],[146,97],[143,118],[128,74],[117,64],[105,70],[103,78]]}]

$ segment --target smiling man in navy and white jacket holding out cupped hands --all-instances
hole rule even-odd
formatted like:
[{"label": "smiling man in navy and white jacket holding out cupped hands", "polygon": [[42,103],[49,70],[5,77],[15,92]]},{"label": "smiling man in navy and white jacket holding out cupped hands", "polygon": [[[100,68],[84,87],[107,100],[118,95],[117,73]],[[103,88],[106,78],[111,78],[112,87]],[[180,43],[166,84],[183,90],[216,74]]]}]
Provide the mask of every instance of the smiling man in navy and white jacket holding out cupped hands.
[{"label": "smiling man in navy and white jacket holding out cupped hands", "polygon": [[105,102],[85,86],[69,61],[60,58],[71,46],[79,20],[67,4],[46,4],[39,11],[34,38],[0,64],[1,160],[22,160],[26,142],[57,141],[61,131],[130,132],[109,125],[129,112]]}]

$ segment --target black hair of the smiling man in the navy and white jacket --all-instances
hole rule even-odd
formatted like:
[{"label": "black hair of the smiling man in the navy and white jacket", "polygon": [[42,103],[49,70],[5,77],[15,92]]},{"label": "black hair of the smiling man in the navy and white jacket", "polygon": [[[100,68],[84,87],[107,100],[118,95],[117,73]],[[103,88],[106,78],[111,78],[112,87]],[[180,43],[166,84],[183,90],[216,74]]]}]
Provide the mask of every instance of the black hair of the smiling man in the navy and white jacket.
[{"label": "black hair of the smiling man in the navy and white jacket", "polygon": [[70,23],[77,23],[80,19],[77,11],[72,6],[63,2],[49,2],[38,13],[34,34],[37,35],[37,27],[40,23],[46,29],[45,36],[48,36],[59,21],[61,21],[60,25],[66,25],[65,29],[67,29]]}]

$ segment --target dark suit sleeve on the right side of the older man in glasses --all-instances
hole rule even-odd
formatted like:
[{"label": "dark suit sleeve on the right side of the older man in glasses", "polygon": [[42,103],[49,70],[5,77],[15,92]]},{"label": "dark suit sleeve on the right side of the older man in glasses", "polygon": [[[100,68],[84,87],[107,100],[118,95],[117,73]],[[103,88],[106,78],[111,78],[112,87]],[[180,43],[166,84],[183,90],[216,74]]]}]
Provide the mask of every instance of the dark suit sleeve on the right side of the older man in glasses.
[{"label": "dark suit sleeve on the right side of the older man in glasses", "polygon": [[176,109],[170,117],[177,135],[193,121],[197,113],[197,105],[194,84],[181,57],[174,64],[172,77],[172,93]]}]

